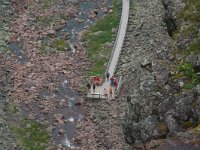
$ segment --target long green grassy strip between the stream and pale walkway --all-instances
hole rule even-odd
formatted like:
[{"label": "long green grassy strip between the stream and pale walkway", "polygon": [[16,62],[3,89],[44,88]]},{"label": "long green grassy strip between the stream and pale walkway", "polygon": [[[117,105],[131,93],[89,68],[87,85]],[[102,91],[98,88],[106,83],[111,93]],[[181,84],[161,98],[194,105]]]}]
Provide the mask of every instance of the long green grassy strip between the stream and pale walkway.
[{"label": "long green grassy strip between the stream and pale walkway", "polygon": [[112,28],[117,28],[120,20],[121,1],[113,0],[113,12],[97,21],[84,34],[83,41],[88,52],[88,57],[94,62],[88,76],[102,75],[105,71],[105,64],[109,60],[111,49],[105,48],[105,43],[114,40],[116,33]]}]

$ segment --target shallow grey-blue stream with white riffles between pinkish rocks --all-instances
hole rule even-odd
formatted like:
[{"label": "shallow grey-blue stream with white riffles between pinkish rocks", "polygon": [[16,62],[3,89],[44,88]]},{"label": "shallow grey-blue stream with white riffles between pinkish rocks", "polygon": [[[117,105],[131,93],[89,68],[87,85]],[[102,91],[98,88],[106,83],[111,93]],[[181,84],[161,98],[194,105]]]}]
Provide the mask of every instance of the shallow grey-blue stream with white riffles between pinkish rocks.
[{"label": "shallow grey-blue stream with white riffles between pinkish rocks", "polygon": [[[108,7],[112,5],[112,0],[108,0],[106,3]],[[56,38],[64,38],[66,32],[69,33],[69,43],[72,52],[75,52],[75,45],[80,42],[78,34],[85,30],[88,26],[96,23],[96,21],[107,13],[101,9],[102,5],[99,5],[95,0],[86,0],[79,2],[79,13],[76,18],[68,20],[66,25],[56,31]],[[91,12],[96,12],[96,17],[89,19]],[[81,20],[81,21],[80,21]],[[48,43],[51,40],[50,37],[43,39],[43,42]],[[29,62],[28,58],[23,52],[22,45],[19,42],[10,43],[11,52],[15,55],[17,61],[21,64]],[[84,119],[83,110],[81,106],[76,103],[81,99],[79,93],[72,90],[68,84],[67,79],[62,75],[59,77],[61,85],[58,86],[56,91],[50,91],[44,89],[38,92],[37,101],[32,102],[31,105],[22,104],[21,110],[24,116],[34,114],[33,118],[36,121],[48,125],[52,130],[52,141],[54,144],[62,144],[64,147],[76,148],[80,147],[77,143],[74,143],[73,138],[76,136],[76,124]],[[50,84],[50,83],[49,83]],[[32,85],[28,85],[25,88],[31,88]],[[54,97],[51,101],[53,109],[49,112],[44,112],[42,101],[44,99],[49,100],[49,97]],[[61,104],[62,103],[62,104]],[[62,120],[62,123],[55,124],[55,118]],[[61,130],[63,133],[61,134]]]}]

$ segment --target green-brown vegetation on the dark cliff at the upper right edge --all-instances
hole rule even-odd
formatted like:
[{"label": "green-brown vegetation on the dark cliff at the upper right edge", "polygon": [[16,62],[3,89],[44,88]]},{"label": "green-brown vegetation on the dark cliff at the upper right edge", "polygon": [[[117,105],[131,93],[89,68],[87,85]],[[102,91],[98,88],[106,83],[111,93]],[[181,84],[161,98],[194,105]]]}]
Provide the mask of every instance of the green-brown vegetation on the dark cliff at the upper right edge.
[{"label": "green-brown vegetation on the dark cliff at the upper right edge", "polygon": [[178,47],[181,49],[179,53],[184,55],[184,59],[177,67],[178,78],[184,78],[183,89],[192,89],[200,84],[200,76],[193,68],[192,63],[184,60],[191,54],[200,54],[200,1],[186,0],[186,5],[179,13],[182,24],[179,30],[174,34],[174,40],[187,41],[185,46]]}]

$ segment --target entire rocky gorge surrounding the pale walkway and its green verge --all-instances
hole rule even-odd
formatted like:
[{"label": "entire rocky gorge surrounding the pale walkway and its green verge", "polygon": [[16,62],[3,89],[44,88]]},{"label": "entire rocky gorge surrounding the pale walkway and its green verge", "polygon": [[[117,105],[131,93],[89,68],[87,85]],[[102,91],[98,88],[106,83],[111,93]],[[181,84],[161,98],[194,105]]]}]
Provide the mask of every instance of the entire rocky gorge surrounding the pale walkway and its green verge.
[{"label": "entire rocky gorge surrounding the pale walkway and its green verge", "polygon": [[0,0],[0,150],[200,148],[200,3],[131,0],[120,96],[91,101],[94,62],[66,22],[86,30],[109,2]]}]

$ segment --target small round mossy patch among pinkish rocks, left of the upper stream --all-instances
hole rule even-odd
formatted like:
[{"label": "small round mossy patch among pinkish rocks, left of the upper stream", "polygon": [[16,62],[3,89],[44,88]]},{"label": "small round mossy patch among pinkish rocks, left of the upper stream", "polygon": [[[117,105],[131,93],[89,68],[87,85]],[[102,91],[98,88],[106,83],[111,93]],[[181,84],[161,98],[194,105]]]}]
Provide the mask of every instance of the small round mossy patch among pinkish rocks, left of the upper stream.
[{"label": "small round mossy patch among pinkish rocks, left of the upper stream", "polygon": [[56,39],[53,42],[52,47],[58,51],[65,51],[67,48],[69,48],[69,44],[64,39]]}]

